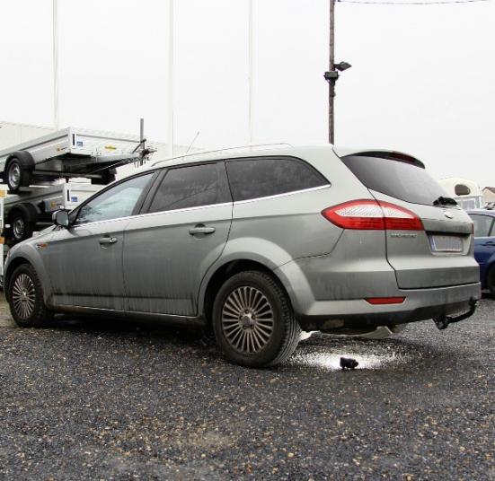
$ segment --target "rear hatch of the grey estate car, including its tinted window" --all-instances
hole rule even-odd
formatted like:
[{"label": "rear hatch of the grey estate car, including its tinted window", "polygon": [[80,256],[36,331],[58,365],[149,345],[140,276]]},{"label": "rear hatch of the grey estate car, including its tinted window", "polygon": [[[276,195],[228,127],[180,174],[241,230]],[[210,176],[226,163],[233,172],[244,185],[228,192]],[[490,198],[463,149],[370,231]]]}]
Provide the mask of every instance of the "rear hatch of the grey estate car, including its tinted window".
[{"label": "rear hatch of the grey estate car, including its tinted window", "polygon": [[391,209],[395,215],[394,206],[398,206],[403,215],[411,217],[409,224],[386,228],[387,260],[400,288],[479,282],[473,258],[473,223],[446,197],[420,161],[395,152],[358,152],[340,158],[384,212]]}]

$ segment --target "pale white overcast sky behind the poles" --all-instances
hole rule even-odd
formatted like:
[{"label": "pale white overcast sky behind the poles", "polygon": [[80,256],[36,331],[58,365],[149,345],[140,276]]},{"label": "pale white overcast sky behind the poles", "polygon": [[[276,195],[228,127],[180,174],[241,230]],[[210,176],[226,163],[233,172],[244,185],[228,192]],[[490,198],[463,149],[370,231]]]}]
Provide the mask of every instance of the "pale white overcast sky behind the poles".
[{"label": "pale white overcast sky behind the poles", "polygon": [[[51,0],[0,0],[0,119],[53,119]],[[254,0],[256,143],[327,139],[329,0]],[[174,141],[249,139],[248,1],[175,0]],[[58,0],[59,118],[167,141],[168,3]],[[336,144],[495,186],[495,0],[336,5]]]}]

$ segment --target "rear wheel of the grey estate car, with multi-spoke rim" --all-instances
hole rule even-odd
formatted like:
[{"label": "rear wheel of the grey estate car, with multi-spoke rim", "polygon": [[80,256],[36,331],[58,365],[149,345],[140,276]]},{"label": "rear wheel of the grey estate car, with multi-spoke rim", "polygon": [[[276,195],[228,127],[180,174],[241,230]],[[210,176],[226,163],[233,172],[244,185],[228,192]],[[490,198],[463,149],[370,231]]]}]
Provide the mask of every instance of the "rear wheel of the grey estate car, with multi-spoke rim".
[{"label": "rear wheel of the grey estate car, with multi-spoke rim", "polygon": [[212,321],[225,356],[246,367],[283,363],[301,336],[287,294],[271,275],[258,271],[225,281],[213,305]]}]

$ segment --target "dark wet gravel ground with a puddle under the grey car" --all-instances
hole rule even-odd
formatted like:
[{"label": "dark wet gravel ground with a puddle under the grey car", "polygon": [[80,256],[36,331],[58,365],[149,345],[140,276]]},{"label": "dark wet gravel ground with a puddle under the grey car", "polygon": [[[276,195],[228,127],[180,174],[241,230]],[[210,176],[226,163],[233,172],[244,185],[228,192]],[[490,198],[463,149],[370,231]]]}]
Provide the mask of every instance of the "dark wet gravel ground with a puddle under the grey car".
[{"label": "dark wet gravel ground with a puddle under the grey car", "polygon": [[494,308],[441,332],[311,337],[248,370],[199,332],[21,329],[1,302],[0,478],[495,480]]}]

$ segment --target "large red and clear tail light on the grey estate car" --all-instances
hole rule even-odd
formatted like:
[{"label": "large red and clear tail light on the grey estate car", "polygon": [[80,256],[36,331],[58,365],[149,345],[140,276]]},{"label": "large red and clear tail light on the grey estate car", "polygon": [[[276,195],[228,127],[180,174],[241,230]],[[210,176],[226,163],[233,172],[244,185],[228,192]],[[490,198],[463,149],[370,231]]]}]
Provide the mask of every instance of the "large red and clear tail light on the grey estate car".
[{"label": "large red and clear tail light on the grey estate car", "polygon": [[323,217],[342,229],[364,231],[422,231],[420,217],[408,209],[380,200],[353,200],[329,207]]}]

